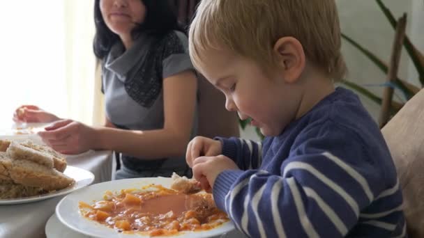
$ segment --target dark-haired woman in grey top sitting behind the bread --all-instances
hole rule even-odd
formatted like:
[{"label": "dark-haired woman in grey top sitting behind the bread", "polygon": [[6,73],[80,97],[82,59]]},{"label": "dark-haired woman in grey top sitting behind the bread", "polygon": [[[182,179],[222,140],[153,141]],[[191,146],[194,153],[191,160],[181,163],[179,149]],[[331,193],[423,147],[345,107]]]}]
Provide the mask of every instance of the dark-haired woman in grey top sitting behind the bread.
[{"label": "dark-haired woman in grey top sitting behind the bread", "polygon": [[37,106],[21,106],[14,119],[58,120],[39,135],[65,154],[121,152],[116,179],[189,173],[184,155],[196,133],[197,79],[169,1],[96,0],[94,19],[105,127],[61,120]]}]

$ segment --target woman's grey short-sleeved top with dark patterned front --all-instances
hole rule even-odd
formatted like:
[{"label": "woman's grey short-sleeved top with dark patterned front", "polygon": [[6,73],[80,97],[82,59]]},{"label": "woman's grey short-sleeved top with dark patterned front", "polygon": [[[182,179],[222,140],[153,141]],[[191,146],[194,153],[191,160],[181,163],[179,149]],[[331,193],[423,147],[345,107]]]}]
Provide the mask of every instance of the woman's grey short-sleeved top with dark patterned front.
[{"label": "woman's grey short-sleeved top with dark patterned front", "polygon": [[[187,38],[179,31],[172,31],[162,38],[139,35],[127,51],[121,42],[114,45],[103,63],[102,90],[107,118],[122,129],[163,128],[162,80],[185,70],[194,70],[187,45]],[[196,126],[192,129],[192,134],[195,133]],[[123,168],[140,174],[186,168],[183,157],[144,160],[122,154],[122,162]]]}]

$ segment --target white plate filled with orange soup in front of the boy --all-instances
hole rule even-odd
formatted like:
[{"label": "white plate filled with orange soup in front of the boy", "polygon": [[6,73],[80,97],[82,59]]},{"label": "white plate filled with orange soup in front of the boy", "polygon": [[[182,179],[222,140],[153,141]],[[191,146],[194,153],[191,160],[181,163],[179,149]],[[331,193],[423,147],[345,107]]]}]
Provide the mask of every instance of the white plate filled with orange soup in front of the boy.
[{"label": "white plate filled with orange soup in front of the boy", "polygon": [[176,174],[93,184],[63,198],[56,216],[90,237],[215,237],[234,230],[211,193]]}]

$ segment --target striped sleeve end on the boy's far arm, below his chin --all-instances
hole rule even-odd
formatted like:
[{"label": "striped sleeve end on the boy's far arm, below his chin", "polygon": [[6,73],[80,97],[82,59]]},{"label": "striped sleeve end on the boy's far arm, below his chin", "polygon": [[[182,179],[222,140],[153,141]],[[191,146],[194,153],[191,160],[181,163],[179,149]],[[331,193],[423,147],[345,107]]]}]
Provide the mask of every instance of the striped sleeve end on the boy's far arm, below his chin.
[{"label": "striped sleeve end on the boy's far arm, below his chin", "polygon": [[262,143],[242,138],[216,137],[222,143],[222,154],[233,159],[242,170],[256,169],[262,164]]}]

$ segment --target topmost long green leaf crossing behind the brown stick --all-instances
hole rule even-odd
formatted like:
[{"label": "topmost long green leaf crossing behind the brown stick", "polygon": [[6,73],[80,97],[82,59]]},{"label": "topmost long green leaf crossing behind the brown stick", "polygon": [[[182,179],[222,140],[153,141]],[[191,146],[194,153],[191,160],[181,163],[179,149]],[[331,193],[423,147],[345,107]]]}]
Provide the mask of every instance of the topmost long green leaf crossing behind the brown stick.
[{"label": "topmost long green leaf crossing behind the brown stick", "polygon": [[[381,0],[375,0],[377,1],[377,5],[381,9],[381,11],[384,13],[386,18],[388,19],[388,22],[390,22],[393,29],[396,29],[396,26],[398,25],[398,21],[396,21],[395,17],[393,16],[393,13],[391,13],[391,10],[389,10]],[[409,40],[409,37],[405,35],[404,38],[404,47],[407,49],[407,52],[409,54],[409,57],[411,57],[412,62],[415,65],[415,68],[418,72],[418,77],[420,79],[421,85],[424,86],[424,56],[423,54],[416,49],[416,47],[412,44],[411,40]]]}]

